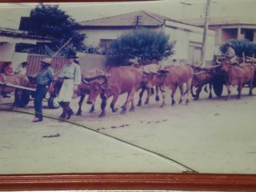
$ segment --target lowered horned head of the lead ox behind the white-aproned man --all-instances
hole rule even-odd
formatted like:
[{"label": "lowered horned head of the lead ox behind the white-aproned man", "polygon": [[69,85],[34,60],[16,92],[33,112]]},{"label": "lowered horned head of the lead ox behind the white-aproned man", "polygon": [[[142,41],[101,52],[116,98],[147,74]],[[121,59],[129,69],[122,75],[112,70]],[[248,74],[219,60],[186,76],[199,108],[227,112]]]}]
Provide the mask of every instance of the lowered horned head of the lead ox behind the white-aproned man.
[{"label": "lowered horned head of the lead ox behind the white-aproned man", "polygon": [[83,83],[88,86],[89,97],[87,104],[94,104],[97,96],[108,88],[108,74],[98,75],[93,78],[82,78]]}]

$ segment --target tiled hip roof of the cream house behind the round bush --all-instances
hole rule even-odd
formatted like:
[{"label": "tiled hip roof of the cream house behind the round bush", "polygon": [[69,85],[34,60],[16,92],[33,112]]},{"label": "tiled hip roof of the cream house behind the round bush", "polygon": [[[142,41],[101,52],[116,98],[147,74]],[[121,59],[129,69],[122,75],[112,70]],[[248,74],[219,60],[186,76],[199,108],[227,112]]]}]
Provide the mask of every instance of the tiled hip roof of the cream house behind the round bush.
[{"label": "tiled hip roof of the cream house behind the round bush", "polygon": [[113,17],[83,21],[79,22],[79,24],[81,26],[132,26],[134,25],[135,16],[142,16],[141,26],[160,26],[163,24],[165,19],[176,21],[171,18],[158,15],[156,13],[150,13],[148,11],[140,10],[133,13],[116,15]]}]

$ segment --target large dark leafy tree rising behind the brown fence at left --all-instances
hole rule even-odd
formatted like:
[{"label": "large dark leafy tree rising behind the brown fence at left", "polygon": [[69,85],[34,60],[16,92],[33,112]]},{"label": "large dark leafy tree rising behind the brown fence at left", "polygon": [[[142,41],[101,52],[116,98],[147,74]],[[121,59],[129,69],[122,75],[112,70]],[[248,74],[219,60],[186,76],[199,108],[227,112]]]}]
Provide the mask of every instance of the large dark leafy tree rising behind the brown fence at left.
[{"label": "large dark leafy tree rising behind the brown fence at left", "polygon": [[[75,31],[78,26],[79,24],[65,11],[59,9],[58,5],[52,6],[43,3],[39,3],[35,9],[32,9],[30,17],[20,23],[20,29],[28,31],[30,35],[53,38],[52,44],[48,46],[54,52],[72,38],[69,44],[63,48],[62,55],[70,51],[82,52],[85,50],[83,44],[85,35]],[[44,46],[29,48],[29,50],[40,54],[45,53]],[[26,49],[25,51],[29,50]]]}]

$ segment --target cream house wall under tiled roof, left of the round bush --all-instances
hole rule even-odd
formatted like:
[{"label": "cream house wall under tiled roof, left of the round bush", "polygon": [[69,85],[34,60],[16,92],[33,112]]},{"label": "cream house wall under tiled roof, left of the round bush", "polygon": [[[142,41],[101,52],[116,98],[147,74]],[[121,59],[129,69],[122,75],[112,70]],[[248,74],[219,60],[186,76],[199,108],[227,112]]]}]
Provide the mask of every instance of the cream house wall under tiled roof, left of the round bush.
[{"label": "cream house wall under tiled roof, left of the round bush", "polygon": [[[153,28],[152,30],[161,31],[161,27]],[[98,47],[100,39],[117,39],[122,33],[132,32],[132,28],[113,28],[113,29],[81,29],[77,30],[80,34],[86,34],[87,38],[84,39],[83,43],[86,46]]]}]

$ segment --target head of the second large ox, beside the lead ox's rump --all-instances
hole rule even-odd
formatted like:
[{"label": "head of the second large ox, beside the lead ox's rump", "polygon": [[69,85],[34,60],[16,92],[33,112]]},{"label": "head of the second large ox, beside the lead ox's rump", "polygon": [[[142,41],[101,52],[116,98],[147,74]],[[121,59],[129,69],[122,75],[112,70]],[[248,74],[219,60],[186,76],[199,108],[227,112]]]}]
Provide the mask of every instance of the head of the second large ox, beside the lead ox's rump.
[{"label": "head of the second large ox, beside the lead ox's rump", "polygon": [[157,72],[147,73],[144,77],[145,86],[147,88],[152,88],[154,85],[160,85],[163,83],[163,81],[165,81],[167,73],[169,73],[169,71],[165,69],[158,70]]}]

